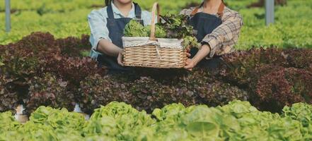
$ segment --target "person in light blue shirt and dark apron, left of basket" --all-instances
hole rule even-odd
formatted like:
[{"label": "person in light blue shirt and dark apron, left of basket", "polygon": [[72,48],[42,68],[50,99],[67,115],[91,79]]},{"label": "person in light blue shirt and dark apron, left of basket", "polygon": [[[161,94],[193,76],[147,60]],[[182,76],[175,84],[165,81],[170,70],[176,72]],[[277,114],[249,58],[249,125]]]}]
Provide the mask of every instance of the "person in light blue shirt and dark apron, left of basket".
[{"label": "person in light blue shirt and dark apron, left of basket", "polygon": [[[132,0],[105,0],[106,7],[93,10],[88,15],[91,28],[91,57],[99,66],[107,66],[111,72],[127,71],[122,61],[122,35],[125,25],[137,19],[142,25],[151,23],[151,13],[141,11]],[[120,63],[120,64],[118,64]]]}]

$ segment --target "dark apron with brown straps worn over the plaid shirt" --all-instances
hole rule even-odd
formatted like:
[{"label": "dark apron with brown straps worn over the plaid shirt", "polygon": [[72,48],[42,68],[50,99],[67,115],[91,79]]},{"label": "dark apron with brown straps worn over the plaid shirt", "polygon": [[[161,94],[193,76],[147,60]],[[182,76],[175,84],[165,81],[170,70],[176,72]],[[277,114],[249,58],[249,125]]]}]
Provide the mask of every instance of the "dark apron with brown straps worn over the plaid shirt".
[{"label": "dark apron with brown straps worn over the plaid shirt", "polygon": [[[200,7],[203,6],[204,3]],[[192,11],[192,18],[188,21],[190,25],[192,25],[193,29],[197,32],[196,38],[198,42],[202,42],[202,39],[210,33],[216,27],[219,27],[221,25],[222,20],[221,17],[223,16],[224,11],[224,3],[221,2],[221,5],[219,6],[218,10],[218,16],[209,14],[209,13],[197,13],[200,7],[195,8],[194,11]],[[190,49],[191,57],[193,58],[197,54],[198,49],[192,48]],[[215,57],[213,59],[203,59],[198,63],[198,66],[205,67],[205,68],[217,68],[219,64],[221,63],[221,59],[219,57]]]}]

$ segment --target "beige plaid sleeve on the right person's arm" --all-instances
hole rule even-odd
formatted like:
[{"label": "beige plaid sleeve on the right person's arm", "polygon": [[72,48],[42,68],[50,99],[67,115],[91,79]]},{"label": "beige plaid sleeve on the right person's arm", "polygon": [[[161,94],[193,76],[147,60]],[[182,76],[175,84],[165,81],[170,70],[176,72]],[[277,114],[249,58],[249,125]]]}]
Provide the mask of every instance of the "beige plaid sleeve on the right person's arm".
[{"label": "beige plaid sleeve on the right person's arm", "polygon": [[216,52],[222,52],[222,46],[226,45],[233,48],[238,41],[241,27],[243,26],[243,18],[239,13],[232,14],[224,19],[223,23],[216,27],[211,34],[206,35],[202,39],[202,43],[208,43],[211,51],[209,58],[212,58]]}]

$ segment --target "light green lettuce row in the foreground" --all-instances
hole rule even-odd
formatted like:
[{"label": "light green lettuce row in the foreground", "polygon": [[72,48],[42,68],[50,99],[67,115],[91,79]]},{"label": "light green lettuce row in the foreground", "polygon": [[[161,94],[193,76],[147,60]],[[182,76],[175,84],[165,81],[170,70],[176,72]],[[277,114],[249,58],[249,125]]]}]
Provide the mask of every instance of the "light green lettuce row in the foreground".
[{"label": "light green lettuce row in the foreground", "polygon": [[312,140],[312,106],[285,106],[282,114],[248,102],[215,108],[169,104],[151,114],[111,102],[86,121],[67,109],[40,106],[21,124],[0,113],[0,140]]}]

